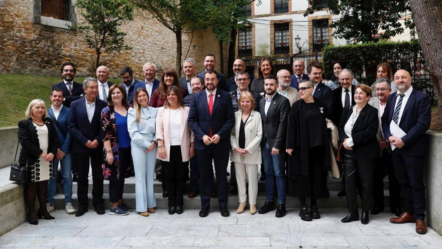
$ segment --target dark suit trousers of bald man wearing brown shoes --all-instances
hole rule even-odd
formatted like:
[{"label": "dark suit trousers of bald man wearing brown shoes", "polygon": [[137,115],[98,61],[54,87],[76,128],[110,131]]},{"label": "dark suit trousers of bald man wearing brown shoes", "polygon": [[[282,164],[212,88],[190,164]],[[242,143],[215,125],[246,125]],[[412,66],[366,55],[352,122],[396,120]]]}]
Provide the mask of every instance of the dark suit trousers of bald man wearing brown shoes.
[{"label": "dark suit trousers of bald man wearing brown shoes", "polygon": [[404,210],[415,219],[424,219],[426,210],[425,185],[423,184],[423,157],[391,153],[396,179],[401,186]]}]

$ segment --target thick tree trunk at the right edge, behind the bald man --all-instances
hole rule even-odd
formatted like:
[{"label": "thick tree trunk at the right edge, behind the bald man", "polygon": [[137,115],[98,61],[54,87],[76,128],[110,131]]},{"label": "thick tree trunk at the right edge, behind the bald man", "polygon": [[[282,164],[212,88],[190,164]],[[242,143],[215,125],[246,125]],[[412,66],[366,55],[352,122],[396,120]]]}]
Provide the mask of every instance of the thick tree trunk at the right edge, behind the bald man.
[{"label": "thick tree trunk at the right edge, behind the bald man", "polygon": [[442,110],[442,4],[440,0],[411,0],[410,5],[425,65],[437,93],[437,109]]}]

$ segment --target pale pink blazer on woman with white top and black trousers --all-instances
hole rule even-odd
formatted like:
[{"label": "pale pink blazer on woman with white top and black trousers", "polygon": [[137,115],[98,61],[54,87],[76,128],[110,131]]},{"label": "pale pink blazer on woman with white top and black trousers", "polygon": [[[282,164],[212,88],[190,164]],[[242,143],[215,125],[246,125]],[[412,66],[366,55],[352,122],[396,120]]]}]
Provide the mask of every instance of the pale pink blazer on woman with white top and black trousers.
[{"label": "pale pink blazer on woman with white top and black trousers", "polygon": [[[185,106],[184,108],[180,107],[181,113],[181,156],[183,161],[189,161],[189,150],[190,143],[193,142],[194,135],[193,132],[189,129],[189,125],[187,124],[187,118],[189,117],[190,108]],[[158,108],[157,113],[157,122],[156,122],[156,136],[157,139],[161,139],[164,141],[164,149],[166,150],[166,158],[160,158],[160,150],[157,149],[156,158],[169,161],[170,156],[170,132],[169,132],[169,116],[170,109],[165,109],[164,107]]]}]

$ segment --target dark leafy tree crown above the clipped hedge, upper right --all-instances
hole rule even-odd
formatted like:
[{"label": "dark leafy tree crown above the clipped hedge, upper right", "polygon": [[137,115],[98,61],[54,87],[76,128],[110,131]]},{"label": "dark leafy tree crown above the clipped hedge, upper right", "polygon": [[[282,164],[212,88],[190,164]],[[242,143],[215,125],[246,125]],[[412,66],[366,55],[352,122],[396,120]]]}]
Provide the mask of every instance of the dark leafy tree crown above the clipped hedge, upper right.
[{"label": "dark leafy tree crown above the clipped hedge, upper right", "polygon": [[[333,35],[354,42],[373,41],[379,32],[383,32],[380,35],[381,39],[402,34],[404,29],[399,19],[406,14],[411,15],[409,0],[308,0],[308,2],[312,6],[316,4],[317,8],[308,8],[304,16],[326,5],[331,14],[340,15],[340,19],[333,20],[331,25],[335,28]],[[412,19],[406,20],[405,25],[413,30]]]}]

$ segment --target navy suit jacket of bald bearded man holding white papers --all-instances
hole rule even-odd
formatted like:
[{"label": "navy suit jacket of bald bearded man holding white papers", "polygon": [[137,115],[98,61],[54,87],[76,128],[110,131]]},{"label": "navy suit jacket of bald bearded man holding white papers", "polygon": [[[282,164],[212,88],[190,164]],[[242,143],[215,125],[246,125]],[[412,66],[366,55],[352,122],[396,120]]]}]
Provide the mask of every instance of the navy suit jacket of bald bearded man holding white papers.
[{"label": "navy suit jacket of bald bearded man holding white papers", "polygon": [[[385,139],[391,136],[390,122],[393,119],[394,106],[396,104],[397,94],[391,94],[388,97],[384,114],[382,115],[382,131]],[[413,89],[404,112],[399,122],[399,127],[406,133],[402,137],[405,145],[402,148],[395,148],[398,153],[411,156],[423,156],[427,153],[425,132],[429,129],[431,123],[431,101],[428,96]]]}]

